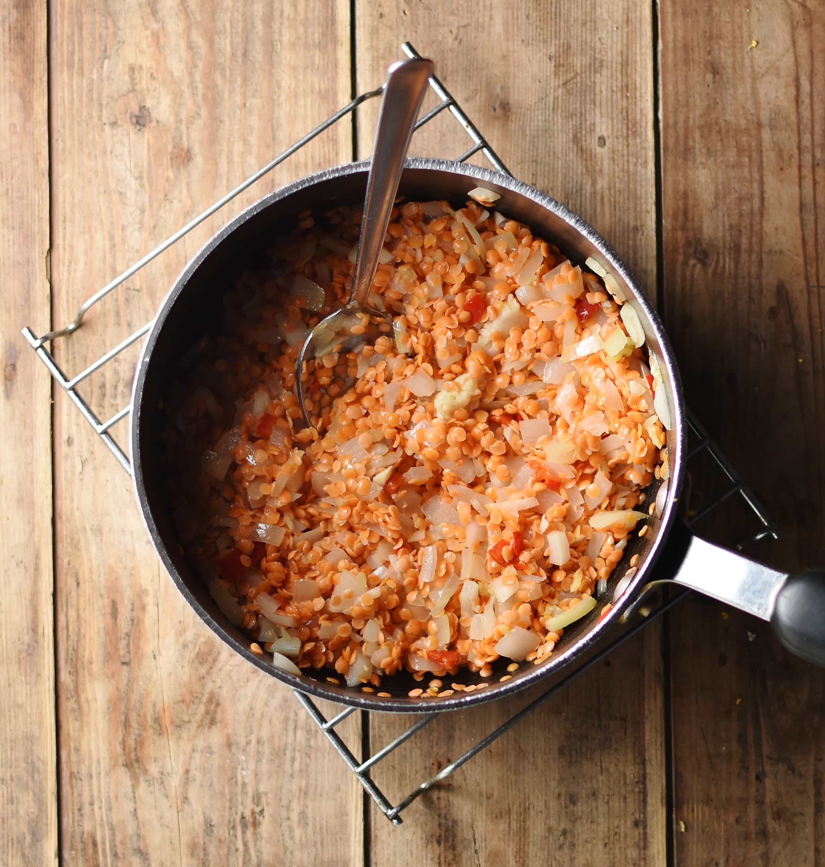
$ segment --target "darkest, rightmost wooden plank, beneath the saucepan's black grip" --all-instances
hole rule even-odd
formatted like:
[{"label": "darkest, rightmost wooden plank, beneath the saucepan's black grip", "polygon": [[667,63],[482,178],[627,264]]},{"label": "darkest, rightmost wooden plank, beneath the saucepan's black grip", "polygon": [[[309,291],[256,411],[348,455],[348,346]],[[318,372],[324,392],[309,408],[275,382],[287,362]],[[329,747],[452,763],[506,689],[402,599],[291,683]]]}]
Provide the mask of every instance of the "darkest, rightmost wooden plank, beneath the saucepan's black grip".
[{"label": "darkest, rightmost wooden plank, beneath the saucepan's black grip", "polygon": [[[822,564],[825,8],[659,20],[665,316],[688,400],[782,527],[755,553]],[[676,864],[822,864],[822,671],[698,602],[671,655]]]}]

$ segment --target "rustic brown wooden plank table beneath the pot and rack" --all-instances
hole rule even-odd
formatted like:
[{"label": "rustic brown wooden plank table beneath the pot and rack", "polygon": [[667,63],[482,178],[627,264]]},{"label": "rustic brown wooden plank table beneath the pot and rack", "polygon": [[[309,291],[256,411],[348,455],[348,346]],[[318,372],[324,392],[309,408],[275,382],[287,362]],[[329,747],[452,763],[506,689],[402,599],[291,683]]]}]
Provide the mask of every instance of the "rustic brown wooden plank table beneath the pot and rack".
[{"label": "rustic brown wooden plank table beneath the pot and rack", "polygon": [[[18,0],[0,25],[0,864],[825,864],[825,678],[698,600],[393,829],[293,696],[188,609],[127,478],[64,394],[50,404],[19,335],[67,322],[379,84],[408,38],[516,176],[581,213],[657,299],[692,406],[782,526],[755,553],[823,563],[822,0]],[[367,154],[376,110],[234,210]],[[413,140],[464,147],[445,116]],[[79,370],[151,317],[228,216],[56,342],[60,362]],[[129,388],[107,369],[85,394],[105,413]],[[380,786],[397,799],[507,713],[439,720]],[[380,745],[408,723],[342,728]]]}]

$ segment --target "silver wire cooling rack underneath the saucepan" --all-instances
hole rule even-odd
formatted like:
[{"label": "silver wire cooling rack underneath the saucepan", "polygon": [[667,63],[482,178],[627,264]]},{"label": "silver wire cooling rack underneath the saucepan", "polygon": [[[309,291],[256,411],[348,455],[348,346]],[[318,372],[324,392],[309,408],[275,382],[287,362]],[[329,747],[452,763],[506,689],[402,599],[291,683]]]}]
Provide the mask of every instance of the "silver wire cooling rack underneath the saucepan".
[{"label": "silver wire cooling rack underneath the saucepan", "polygon": [[[413,46],[409,42],[404,42],[401,46],[401,49],[406,54],[407,57],[419,57],[419,53],[413,48]],[[507,167],[504,166],[502,160],[498,157],[497,153],[490,147],[488,141],[484,138],[484,136],[478,131],[477,127],[470,121],[466,114],[464,114],[464,110],[458,105],[458,102],[450,95],[444,85],[438,81],[438,78],[432,77],[430,79],[430,87],[432,91],[438,98],[438,104],[435,108],[432,108],[426,114],[424,114],[416,124],[416,129],[419,127],[423,127],[425,123],[432,121],[432,119],[445,110],[449,110],[452,116],[458,121],[458,124],[464,129],[464,132],[469,136],[472,144],[461,156],[458,157],[458,160],[464,162],[464,160],[469,160],[470,157],[475,153],[483,153],[487,160],[490,161],[490,164],[497,169],[497,171],[510,174],[508,172]],[[100,436],[101,440],[103,440],[110,451],[114,454],[115,459],[120,463],[120,466],[123,467],[127,473],[132,473],[132,464],[129,460],[127,453],[120,447],[117,440],[114,439],[114,436],[111,433],[112,427],[117,424],[122,419],[125,419],[127,415],[130,413],[132,406],[129,404],[126,407],[122,407],[118,410],[114,415],[110,416],[105,420],[101,420],[98,415],[95,413],[94,409],[88,405],[88,402],[78,393],[77,387],[81,384],[81,382],[86,381],[88,377],[94,374],[95,371],[103,368],[108,362],[111,362],[116,356],[120,355],[124,349],[131,346],[133,343],[140,340],[140,338],[152,328],[152,322],[148,322],[145,325],[141,326],[139,329],[133,332],[130,336],[128,336],[125,340],[118,343],[117,346],[114,346],[112,349],[107,349],[100,357],[98,357],[94,362],[88,365],[87,368],[81,370],[80,373],[74,376],[68,376],[63,371],[62,368],[55,362],[55,358],[49,349],[46,348],[47,343],[51,343],[56,339],[71,335],[76,329],[80,328],[81,323],[83,322],[84,317],[91,310],[95,304],[101,302],[101,300],[106,297],[110,292],[116,289],[118,286],[123,284],[129,277],[133,277],[140,269],[142,269],[146,264],[150,263],[155,257],[158,257],[160,253],[167,250],[172,244],[175,244],[180,238],[183,238],[188,232],[192,231],[197,225],[202,223],[206,218],[211,217],[213,213],[218,211],[232,199],[241,193],[244,192],[247,187],[254,184],[258,179],[263,178],[263,176],[272,171],[276,166],[280,165],[284,160],[289,159],[293,153],[296,153],[300,148],[306,145],[309,141],[315,139],[315,137],[321,134],[328,127],[333,126],[336,121],[340,121],[341,118],[346,117],[348,114],[351,114],[355,108],[361,105],[362,102],[365,102],[369,99],[372,99],[375,96],[379,96],[382,92],[383,88],[378,88],[376,90],[371,90],[365,94],[361,94],[352,102],[348,103],[348,105],[341,108],[340,111],[333,114],[326,121],[324,121],[320,126],[315,127],[312,132],[303,136],[302,139],[296,141],[294,145],[288,147],[283,153],[280,153],[274,160],[271,160],[265,166],[260,168],[256,173],[252,174],[249,178],[244,180],[242,184],[235,187],[231,192],[226,193],[226,195],[222,199],[218,199],[211,207],[207,208],[205,212],[198,215],[198,217],[192,219],[189,223],[183,226],[179,231],[176,231],[173,235],[159,244],[155,249],[146,254],[139,261],[135,262],[131,267],[127,268],[119,277],[115,277],[110,283],[106,284],[101,290],[98,290],[94,293],[94,295],[83,303],[80,310],[77,311],[77,315],[75,319],[69,323],[66,327],[59,329],[57,331],[50,331],[48,334],[44,334],[40,337],[36,336],[36,334],[28,327],[23,329],[23,336],[26,338],[29,345],[36,351],[37,356],[40,360],[49,368],[49,373],[54,377],[55,382],[62,388],[63,391],[68,394],[69,399],[75,404],[75,406],[80,410],[83,417],[88,421],[88,423],[94,428],[94,432]],[[739,477],[736,469],[731,465],[731,462],[727,460],[722,453],[721,449],[718,447],[716,442],[711,440],[711,437],[705,431],[705,428],[702,427],[698,420],[692,414],[688,414],[688,425],[690,429],[690,437],[691,442],[689,442],[689,452],[688,452],[688,461],[689,468],[694,464],[694,462],[698,461],[700,458],[709,459],[711,467],[713,467],[717,473],[720,475],[722,479],[722,486],[717,493],[714,493],[707,503],[701,503],[700,507],[695,512],[690,512],[688,517],[689,525],[696,525],[703,519],[711,516],[726,502],[726,501],[734,501],[737,502],[740,509],[745,513],[746,516],[750,516],[751,522],[753,518],[756,518],[756,531],[750,531],[746,535],[744,535],[744,540],[737,544],[737,548],[741,549],[745,545],[756,542],[757,540],[764,538],[766,536],[772,536],[776,538],[777,531],[776,525],[770,519],[769,515],[765,511],[763,505],[757,500],[756,496],[750,489],[745,486],[744,481]],[[686,596],[690,591],[681,590],[678,593],[674,593],[666,602],[660,603],[659,606],[650,611],[646,607],[642,607],[640,609],[641,615],[637,618],[637,622],[633,625],[629,626],[625,629],[621,634],[614,638],[611,642],[605,644],[602,649],[598,650],[594,655],[590,656],[588,660],[581,663],[577,668],[572,669],[568,675],[565,675],[561,680],[556,681],[551,687],[545,690],[542,694],[540,694],[536,699],[530,701],[526,707],[523,707],[518,713],[514,714],[510,717],[509,720],[504,722],[499,727],[495,728],[491,731],[486,737],[482,740],[479,740],[477,744],[471,746],[466,753],[459,756],[458,759],[451,761],[448,765],[441,768],[441,770],[436,773],[434,776],[425,779],[419,786],[413,788],[411,792],[409,792],[405,798],[401,799],[397,804],[393,805],[387,796],[382,792],[379,786],[376,786],[374,780],[371,776],[371,771],[376,766],[381,759],[385,759],[390,753],[393,753],[399,746],[413,737],[414,734],[421,731],[421,729],[430,725],[433,720],[437,716],[441,716],[442,719],[446,714],[439,714],[438,712],[430,712],[421,714],[419,719],[416,722],[406,729],[406,731],[399,735],[395,740],[388,743],[386,746],[381,747],[378,751],[372,752],[368,744],[362,744],[361,748],[361,759],[356,759],[354,753],[349,749],[349,747],[341,740],[341,736],[335,731],[335,727],[339,725],[343,720],[347,719],[350,714],[354,714],[354,707],[347,707],[342,710],[341,713],[336,714],[331,718],[327,718],[322,714],[320,708],[315,704],[312,699],[309,698],[309,695],[303,694],[295,690],[296,698],[301,702],[303,707],[306,708],[309,716],[315,720],[317,726],[321,729],[321,731],[327,736],[330,742],[335,746],[335,749],[338,753],[341,754],[341,758],[347,763],[350,770],[355,774],[358,781],[363,786],[365,792],[374,800],[375,804],[378,805],[380,811],[393,823],[393,825],[401,824],[401,812],[403,812],[406,807],[413,803],[415,799],[419,797],[419,795],[426,792],[432,786],[437,785],[442,780],[449,777],[453,772],[457,771],[459,767],[463,766],[466,762],[472,759],[477,753],[480,753],[486,746],[490,746],[490,744],[500,738],[503,733],[510,730],[510,728],[516,726],[518,722],[524,719],[524,717],[532,714],[536,708],[540,707],[545,701],[548,701],[555,693],[557,693],[560,689],[566,687],[570,681],[573,681],[576,677],[583,674],[588,668],[591,668],[596,663],[601,662],[607,655],[613,653],[615,649],[617,649],[620,644],[626,642],[628,639],[632,638],[639,632],[641,629],[644,629],[649,623],[651,623],[656,617],[664,614],[666,610],[670,609],[673,605],[678,603],[684,596]],[[361,716],[361,725],[362,730],[368,731],[368,715],[369,711],[361,710],[359,711]],[[368,738],[366,739],[368,741]]]}]

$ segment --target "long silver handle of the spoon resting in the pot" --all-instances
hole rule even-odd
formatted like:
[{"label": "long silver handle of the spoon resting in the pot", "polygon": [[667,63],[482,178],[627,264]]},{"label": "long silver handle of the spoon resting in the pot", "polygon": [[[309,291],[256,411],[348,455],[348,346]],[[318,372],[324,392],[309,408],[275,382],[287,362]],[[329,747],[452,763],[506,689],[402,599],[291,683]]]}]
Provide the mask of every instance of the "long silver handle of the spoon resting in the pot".
[{"label": "long silver handle of the spoon resting in the pot", "polygon": [[367,178],[361,243],[355,257],[352,295],[355,303],[366,303],[373,284],[406,150],[410,147],[413,127],[432,70],[431,60],[416,57],[393,63],[388,71],[378,129],[375,131],[373,161]]}]

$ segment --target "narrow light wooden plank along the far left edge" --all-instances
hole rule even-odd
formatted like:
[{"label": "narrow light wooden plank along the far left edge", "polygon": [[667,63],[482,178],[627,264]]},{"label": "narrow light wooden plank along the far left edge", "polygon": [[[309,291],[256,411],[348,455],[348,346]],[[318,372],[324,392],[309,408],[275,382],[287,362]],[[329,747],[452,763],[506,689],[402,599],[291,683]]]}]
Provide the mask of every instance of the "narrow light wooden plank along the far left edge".
[{"label": "narrow light wooden plank along the far left edge", "polygon": [[0,7],[0,864],[56,864],[46,9]]}]

